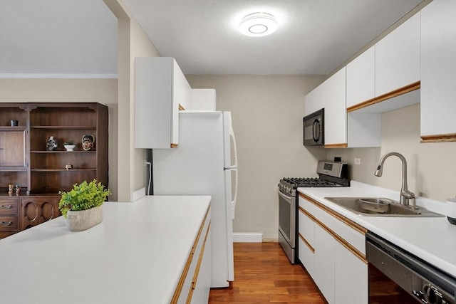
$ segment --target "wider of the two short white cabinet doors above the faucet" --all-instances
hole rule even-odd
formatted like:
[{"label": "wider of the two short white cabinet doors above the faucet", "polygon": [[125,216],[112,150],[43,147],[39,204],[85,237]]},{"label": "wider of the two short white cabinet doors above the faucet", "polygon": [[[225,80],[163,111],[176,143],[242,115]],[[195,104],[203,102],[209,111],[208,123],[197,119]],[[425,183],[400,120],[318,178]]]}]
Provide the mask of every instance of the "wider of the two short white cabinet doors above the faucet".
[{"label": "wider of the two short white cabinet doors above the faucet", "polygon": [[420,13],[375,44],[375,96],[420,80]]}]

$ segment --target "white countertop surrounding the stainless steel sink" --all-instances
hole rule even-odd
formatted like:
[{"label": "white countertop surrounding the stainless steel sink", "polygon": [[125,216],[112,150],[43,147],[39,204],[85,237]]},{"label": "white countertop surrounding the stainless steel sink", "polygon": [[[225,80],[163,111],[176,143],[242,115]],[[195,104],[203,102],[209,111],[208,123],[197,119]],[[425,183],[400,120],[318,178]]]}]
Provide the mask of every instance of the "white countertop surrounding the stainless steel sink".
[{"label": "white countertop surrounding the stainless steel sink", "polygon": [[[351,182],[351,187],[299,188],[298,190],[456,278],[456,225],[450,224],[446,216],[360,216],[323,199],[331,196],[375,196],[399,200],[398,192],[356,181]],[[440,201],[418,198],[417,204],[440,214],[445,212],[443,211],[445,203]]]}]

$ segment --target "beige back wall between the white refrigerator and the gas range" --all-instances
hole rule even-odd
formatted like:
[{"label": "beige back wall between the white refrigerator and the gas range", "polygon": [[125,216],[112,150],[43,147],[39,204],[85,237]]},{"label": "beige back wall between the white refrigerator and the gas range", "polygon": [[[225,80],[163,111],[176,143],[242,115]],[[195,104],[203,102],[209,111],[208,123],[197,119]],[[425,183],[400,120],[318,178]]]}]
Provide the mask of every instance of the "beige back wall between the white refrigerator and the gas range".
[{"label": "beige back wall between the white refrigerator and the gas range", "polygon": [[192,88],[215,88],[217,110],[231,111],[239,157],[234,232],[277,239],[277,184],[316,174],[323,149],[302,145],[304,96],[321,76],[187,75]]}]

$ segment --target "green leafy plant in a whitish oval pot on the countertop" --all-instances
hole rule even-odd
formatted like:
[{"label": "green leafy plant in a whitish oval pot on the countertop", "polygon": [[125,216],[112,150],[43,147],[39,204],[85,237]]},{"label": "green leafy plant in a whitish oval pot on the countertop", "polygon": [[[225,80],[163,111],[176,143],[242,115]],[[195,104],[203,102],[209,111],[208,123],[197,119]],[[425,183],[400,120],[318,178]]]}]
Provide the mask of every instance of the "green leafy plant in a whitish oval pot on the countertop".
[{"label": "green leafy plant in a whitish oval pot on the countertop", "polygon": [[58,192],[62,198],[58,203],[63,217],[68,219],[68,228],[71,231],[89,229],[103,220],[103,203],[110,191],[103,184],[93,179],[81,184],[73,184],[69,192]]}]

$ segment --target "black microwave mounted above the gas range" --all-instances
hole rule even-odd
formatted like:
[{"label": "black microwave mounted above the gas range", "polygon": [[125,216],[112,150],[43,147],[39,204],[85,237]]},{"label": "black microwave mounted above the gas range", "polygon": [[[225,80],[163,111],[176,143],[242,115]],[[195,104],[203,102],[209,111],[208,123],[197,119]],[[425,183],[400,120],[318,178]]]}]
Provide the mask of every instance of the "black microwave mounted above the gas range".
[{"label": "black microwave mounted above the gas range", "polygon": [[322,108],[302,119],[305,146],[325,145],[325,109]]}]

